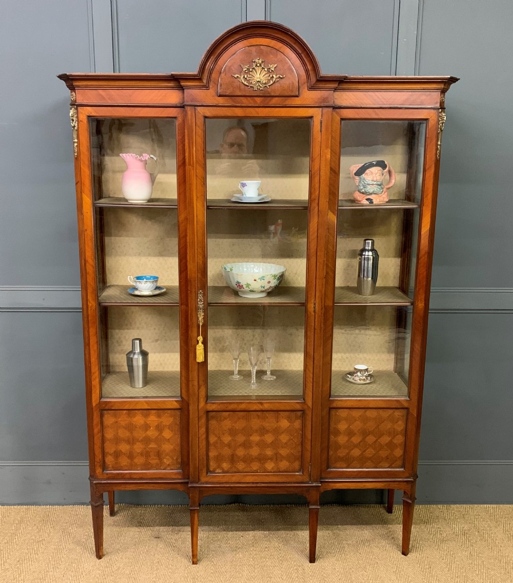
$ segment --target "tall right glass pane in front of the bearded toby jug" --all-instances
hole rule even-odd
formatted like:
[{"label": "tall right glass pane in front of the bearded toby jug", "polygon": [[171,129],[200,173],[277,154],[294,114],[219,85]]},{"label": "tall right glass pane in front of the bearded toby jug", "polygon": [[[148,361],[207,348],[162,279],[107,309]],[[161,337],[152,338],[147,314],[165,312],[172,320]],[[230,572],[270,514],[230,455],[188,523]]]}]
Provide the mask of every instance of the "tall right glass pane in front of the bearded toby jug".
[{"label": "tall right glass pane in front of the bearded toby jug", "polygon": [[408,395],[425,138],[423,121],[341,122],[334,397]]}]

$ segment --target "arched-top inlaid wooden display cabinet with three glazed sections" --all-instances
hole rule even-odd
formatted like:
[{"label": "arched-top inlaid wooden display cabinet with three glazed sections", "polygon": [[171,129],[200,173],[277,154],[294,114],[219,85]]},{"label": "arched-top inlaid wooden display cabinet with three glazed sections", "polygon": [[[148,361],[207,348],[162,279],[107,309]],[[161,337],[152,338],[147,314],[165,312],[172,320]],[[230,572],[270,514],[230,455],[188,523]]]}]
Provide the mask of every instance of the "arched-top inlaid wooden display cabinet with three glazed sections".
[{"label": "arched-top inlaid wooden display cabinet with three glazed sections", "polygon": [[302,494],[313,562],[323,491],[401,490],[407,554],[457,79],[321,75],[269,22],[197,73],[60,78],[97,557],[104,493],[132,489],[187,493],[193,563],[204,496]]}]

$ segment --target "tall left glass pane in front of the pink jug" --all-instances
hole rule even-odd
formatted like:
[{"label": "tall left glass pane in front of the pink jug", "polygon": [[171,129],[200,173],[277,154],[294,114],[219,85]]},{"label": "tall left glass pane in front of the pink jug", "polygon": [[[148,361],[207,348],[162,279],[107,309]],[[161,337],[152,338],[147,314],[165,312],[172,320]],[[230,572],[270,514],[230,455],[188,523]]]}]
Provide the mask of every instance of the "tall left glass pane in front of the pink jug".
[{"label": "tall left glass pane in front of the pink jug", "polygon": [[[93,119],[90,132],[102,397],[179,398],[176,122]],[[147,374],[130,380],[126,354],[136,338]]]}]

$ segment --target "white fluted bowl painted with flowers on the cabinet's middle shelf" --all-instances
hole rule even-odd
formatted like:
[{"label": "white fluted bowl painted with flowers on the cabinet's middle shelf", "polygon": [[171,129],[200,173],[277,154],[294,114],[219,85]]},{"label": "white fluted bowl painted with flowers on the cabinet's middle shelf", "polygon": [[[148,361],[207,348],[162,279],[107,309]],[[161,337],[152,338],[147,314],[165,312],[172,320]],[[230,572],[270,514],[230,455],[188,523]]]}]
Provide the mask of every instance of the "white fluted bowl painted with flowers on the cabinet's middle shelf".
[{"label": "white fluted bowl painted with flowers on the cabinet's middle shelf", "polygon": [[227,263],[222,266],[225,282],[242,297],[265,297],[279,286],[286,269],[274,263]]}]

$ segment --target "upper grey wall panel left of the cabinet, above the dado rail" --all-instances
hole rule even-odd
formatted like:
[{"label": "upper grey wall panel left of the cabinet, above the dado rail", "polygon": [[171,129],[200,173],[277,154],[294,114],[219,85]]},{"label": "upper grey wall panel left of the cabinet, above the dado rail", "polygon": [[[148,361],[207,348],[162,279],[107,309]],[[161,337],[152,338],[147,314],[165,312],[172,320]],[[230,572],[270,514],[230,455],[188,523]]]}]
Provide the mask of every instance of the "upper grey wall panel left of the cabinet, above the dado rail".
[{"label": "upper grey wall panel left of the cabinet, above the dado rail", "polygon": [[80,285],[69,95],[53,72],[91,70],[87,8],[2,2],[2,287]]}]

